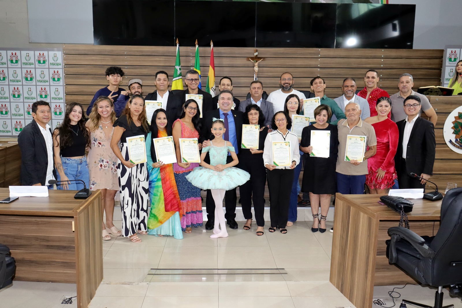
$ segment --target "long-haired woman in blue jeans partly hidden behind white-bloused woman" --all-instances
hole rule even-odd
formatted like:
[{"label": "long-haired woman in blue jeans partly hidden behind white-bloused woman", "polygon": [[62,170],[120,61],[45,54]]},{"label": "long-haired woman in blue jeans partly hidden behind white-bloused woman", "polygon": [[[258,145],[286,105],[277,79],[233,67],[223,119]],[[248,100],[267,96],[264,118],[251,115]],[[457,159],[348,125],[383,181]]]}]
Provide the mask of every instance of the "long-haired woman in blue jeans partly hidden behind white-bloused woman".
[{"label": "long-haired woman in blue jeans partly hidden behind white-bloused woman", "polygon": [[[289,115],[289,118],[292,120],[292,128],[290,131],[297,135],[298,143],[300,144],[300,139],[302,138],[302,131],[305,126],[310,124],[310,118],[303,115],[302,103],[298,98],[297,94],[290,94],[286,98],[286,104],[284,105],[284,111]],[[300,157],[303,155],[303,152],[300,151]],[[297,202],[298,202],[298,192],[300,191],[300,184],[298,182],[298,177],[302,171],[302,164],[298,164],[293,173],[293,182],[292,182],[292,191],[290,194],[289,202],[289,216],[287,221],[287,227],[293,225],[297,221]]]}]

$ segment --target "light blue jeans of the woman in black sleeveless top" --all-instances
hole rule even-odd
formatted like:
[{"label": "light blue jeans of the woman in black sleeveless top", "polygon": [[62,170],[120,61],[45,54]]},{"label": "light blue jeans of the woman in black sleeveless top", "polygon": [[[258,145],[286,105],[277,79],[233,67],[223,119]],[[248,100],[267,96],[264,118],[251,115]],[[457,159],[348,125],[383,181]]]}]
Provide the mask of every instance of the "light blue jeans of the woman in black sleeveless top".
[{"label": "light blue jeans of the woman in black sleeveless top", "polygon": [[[90,187],[90,172],[88,171],[88,164],[86,162],[86,157],[83,158],[66,158],[61,157],[62,169],[64,174],[66,174],[67,179],[75,180],[79,179],[85,182],[87,188]],[[58,173],[58,181],[61,181],[61,176]],[[84,188],[82,182],[69,182],[68,190],[70,191],[79,191]],[[56,183],[56,188],[59,190],[64,190],[64,186],[61,183]]]}]

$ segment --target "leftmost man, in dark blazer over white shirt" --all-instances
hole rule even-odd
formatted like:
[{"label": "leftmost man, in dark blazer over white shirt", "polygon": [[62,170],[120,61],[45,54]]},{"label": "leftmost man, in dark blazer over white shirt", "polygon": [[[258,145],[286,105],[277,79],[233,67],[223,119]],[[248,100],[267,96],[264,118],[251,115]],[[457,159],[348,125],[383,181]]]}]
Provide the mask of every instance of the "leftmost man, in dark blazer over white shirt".
[{"label": "leftmost man, in dark blazer over white shirt", "polygon": [[[49,185],[56,179],[53,160],[53,139],[48,122],[51,120],[50,105],[43,100],[32,104],[31,123],[19,133],[21,150],[21,184],[26,186]],[[50,187],[51,186],[51,187]],[[53,185],[49,185],[53,189]]]}]

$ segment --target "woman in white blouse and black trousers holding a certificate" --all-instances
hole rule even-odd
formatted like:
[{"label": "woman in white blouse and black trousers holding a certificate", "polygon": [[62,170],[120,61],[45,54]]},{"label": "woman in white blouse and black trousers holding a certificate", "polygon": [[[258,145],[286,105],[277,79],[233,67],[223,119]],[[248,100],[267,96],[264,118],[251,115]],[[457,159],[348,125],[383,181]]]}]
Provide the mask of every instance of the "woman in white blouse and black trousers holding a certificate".
[{"label": "woman in white blouse and black trousers holding a certificate", "polygon": [[298,137],[289,129],[292,120],[285,111],[274,114],[271,121],[273,131],[265,140],[263,164],[267,167],[271,227],[269,232],[287,233],[289,205],[287,200],[292,191],[294,168],[300,163]]}]

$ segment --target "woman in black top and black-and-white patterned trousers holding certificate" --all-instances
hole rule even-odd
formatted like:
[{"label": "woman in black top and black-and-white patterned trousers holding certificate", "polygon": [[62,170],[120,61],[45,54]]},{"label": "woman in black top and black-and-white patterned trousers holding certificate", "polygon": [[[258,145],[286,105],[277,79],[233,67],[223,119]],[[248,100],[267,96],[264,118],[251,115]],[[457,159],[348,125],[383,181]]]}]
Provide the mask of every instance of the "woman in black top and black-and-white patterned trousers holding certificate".
[{"label": "woman in black top and black-and-white patterned trousers holding certificate", "polygon": [[[111,149],[117,156],[117,175],[122,209],[122,235],[140,243],[140,234],[147,234],[148,174],[145,139],[149,131],[144,98],[134,94],[122,116],[113,124]],[[120,148],[118,143],[120,141]]]}]

